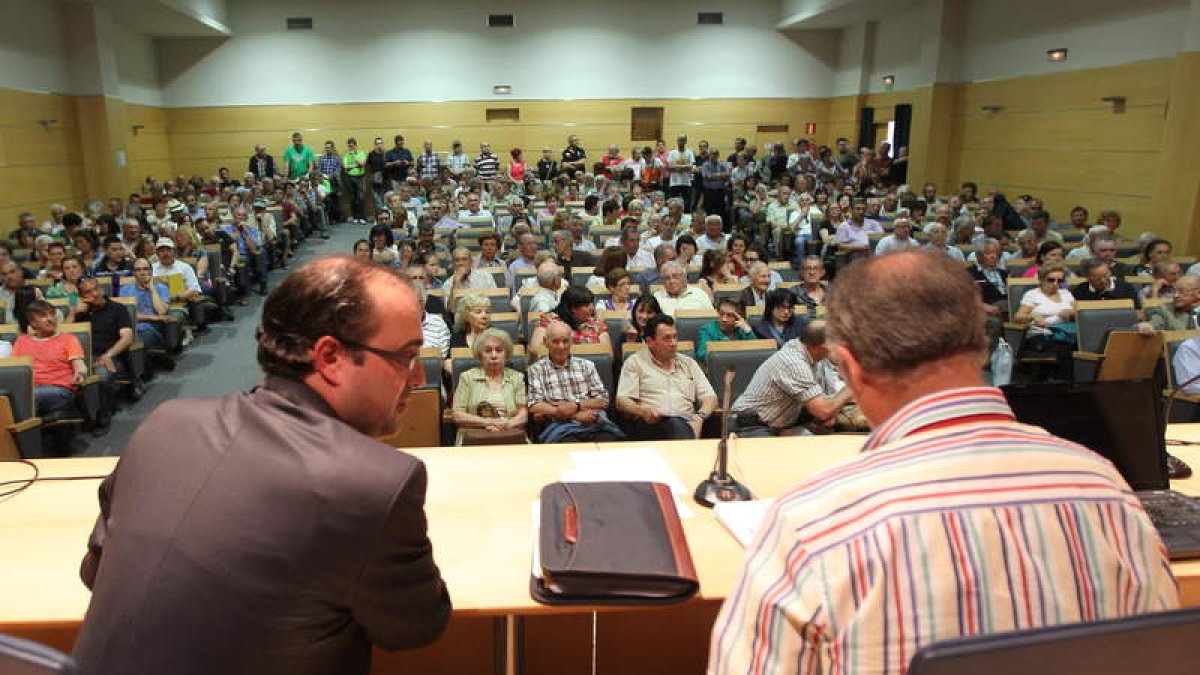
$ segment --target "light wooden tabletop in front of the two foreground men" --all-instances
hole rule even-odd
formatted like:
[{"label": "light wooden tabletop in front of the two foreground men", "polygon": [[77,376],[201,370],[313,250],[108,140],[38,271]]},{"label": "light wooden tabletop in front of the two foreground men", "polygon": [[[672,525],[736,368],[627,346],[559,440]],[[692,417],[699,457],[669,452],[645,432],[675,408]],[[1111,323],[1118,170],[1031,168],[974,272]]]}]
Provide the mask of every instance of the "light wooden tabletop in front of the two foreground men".
[{"label": "light wooden tabletop in front of the two foreground men", "polygon": [[[1171,425],[1169,440],[1200,443],[1200,424]],[[776,496],[805,477],[853,456],[862,436],[755,438],[733,443],[730,472],[757,496]],[[608,448],[654,448],[690,490],[712,470],[716,441],[605,443]],[[578,613],[550,608],[529,597],[533,545],[532,503],[542,485],[560,478],[574,450],[594,443],[422,448],[430,473],[426,512],[430,538],[460,615]],[[1200,470],[1200,446],[1171,447]],[[41,460],[42,477],[91,476],[112,471],[116,458]],[[29,467],[0,464],[0,480],[29,476]],[[0,501],[0,633],[16,627],[78,623],[89,591],[78,568],[98,512],[98,479],[37,483]],[[1200,477],[1172,482],[1200,496]],[[701,579],[701,599],[721,599],[742,565],[743,549],[713,516],[690,502],[684,519]],[[1172,565],[1183,603],[1200,605],[1200,561]],[[622,608],[629,609],[629,608]]]}]

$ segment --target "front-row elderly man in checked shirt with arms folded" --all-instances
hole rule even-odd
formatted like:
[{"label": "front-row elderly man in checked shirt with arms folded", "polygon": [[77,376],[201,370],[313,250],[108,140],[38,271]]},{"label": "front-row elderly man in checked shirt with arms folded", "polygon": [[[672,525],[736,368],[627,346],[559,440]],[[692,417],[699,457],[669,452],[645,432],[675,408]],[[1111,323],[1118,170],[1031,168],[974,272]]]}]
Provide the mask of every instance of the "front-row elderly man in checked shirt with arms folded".
[{"label": "front-row elderly man in checked shirt with arms folded", "polygon": [[551,323],[546,350],[546,358],[526,371],[529,413],[546,423],[538,441],[624,441],[625,434],[605,413],[608,392],[595,364],[571,356],[571,328],[562,321]]}]

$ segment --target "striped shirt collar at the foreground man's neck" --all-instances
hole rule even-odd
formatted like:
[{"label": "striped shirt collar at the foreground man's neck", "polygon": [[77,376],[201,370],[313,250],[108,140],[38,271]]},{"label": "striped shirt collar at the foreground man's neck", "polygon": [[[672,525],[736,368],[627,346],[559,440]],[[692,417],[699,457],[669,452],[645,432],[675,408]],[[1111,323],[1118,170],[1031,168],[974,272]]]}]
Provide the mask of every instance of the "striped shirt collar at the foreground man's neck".
[{"label": "striped shirt collar at the foreground man's neck", "polygon": [[967,418],[982,416],[1016,419],[1004,395],[992,387],[966,387],[929,394],[901,407],[877,426],[863,450],[874,450],[931,424],[966,423]]}]

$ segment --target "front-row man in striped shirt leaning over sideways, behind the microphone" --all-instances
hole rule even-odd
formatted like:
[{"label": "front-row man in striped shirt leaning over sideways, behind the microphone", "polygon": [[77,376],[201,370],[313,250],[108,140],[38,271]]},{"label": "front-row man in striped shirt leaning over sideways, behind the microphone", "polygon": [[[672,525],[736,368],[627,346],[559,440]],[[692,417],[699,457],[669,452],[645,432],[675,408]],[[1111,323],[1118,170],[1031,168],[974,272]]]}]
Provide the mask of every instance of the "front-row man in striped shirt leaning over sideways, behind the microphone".
[{"label": "front-row man in striped shirt leaning over sideways, behind the microphone", "polygon": [[824,395],[817,377],[817,363],[829,356],[824,325],[822,319],[809,322],[799,339],[762,362],[733,402],[733,431],[746,437],[806,436],[810,424],[833,426],[852,394],[844,387],[833,396]]}]

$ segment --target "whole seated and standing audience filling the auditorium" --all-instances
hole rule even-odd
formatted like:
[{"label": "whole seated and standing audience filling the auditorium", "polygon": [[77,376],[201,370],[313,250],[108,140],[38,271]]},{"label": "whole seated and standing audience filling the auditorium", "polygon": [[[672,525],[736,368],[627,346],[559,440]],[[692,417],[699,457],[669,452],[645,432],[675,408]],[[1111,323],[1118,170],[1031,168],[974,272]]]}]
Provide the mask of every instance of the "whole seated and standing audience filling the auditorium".
[{"label": "whole seated and standing audience filling the auditorium", "polygon": [[[20,324],[13,356],[35,359],[38,411],[78,405],[80,375],[94,374],[106,402],[89,424],[103,432],[121,394],[138,398],[210,322],[266,294],[269,270],[346,221],[365,227],[349,253],[395,268],[424,295],[427,358],[443,366],[427,369],[430,386],[456,443],[714,434],[706,420],[720,412],[720,374],[706,372],[708,358],[714,344],[742,340],[767,340],[779,357],[736,393],[733,428],[862,429],[823,358],[829,281],[896,251],[961,262],[992,348],[1016,322],[1022,350],[1056,357],[1036,376],[1070,380],[1076,300],[1130,298],[1140,331],[1196,327],[1200,265],[1170,241],[1130,235],[1112,209],[1056,220],[1032,195],[910,186],[907,151],[888,143],[799,138],[760,154],[744,138],[722,150],[679,136],[673,148],[608,145],[590,157],[570,136],[528,161],[487,142],[474,155],[457,141],[414,153],[403,136],[343,148],[325,141],[318,153],[295,133],[280,160],[258,145],[242,173],[148,178],[124,201],[55,205],[41,222],[22,214],[0,246],[0,299]],[[1010,281],[1022,277],[1039,283],[1013,304]],[[683,316],[709,321],[683,340]],[[31,348],[58,335],[52,318],[91,322],[86,369],[78,350]],[[596,353],[611,358],[586,358]],[[779,395],[791,405],[763,402]]]}]

